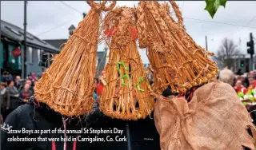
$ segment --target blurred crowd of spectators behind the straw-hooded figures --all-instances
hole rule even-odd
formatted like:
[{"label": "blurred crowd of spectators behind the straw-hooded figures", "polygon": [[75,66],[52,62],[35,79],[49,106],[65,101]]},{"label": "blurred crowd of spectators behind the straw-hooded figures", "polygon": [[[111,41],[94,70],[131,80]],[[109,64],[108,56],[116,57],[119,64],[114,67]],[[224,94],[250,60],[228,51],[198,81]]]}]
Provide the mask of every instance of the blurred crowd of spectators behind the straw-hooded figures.
[{"label": "blurred crowd of spectators behind the straw-hooded figures", "polygon": [[[94,107],[98,107],[100,96],[106,83],[104,78],[106,72],[102,71],[99,77],[94,78]],[[154,84],[153,76],[148,75],[150,85]],[[1,77],[1,116],[2,120],[6,118],[14,109],[20,105],[26,104],[32,96],[34,96],[34,85],[40,76],[35,73],[30,73],[26,79],[19,76],[13,77],[10,73],[4,72]],[[234,87],[235,92],[245,105],[248,112],[256,110],[256,73],[232,72],[230,69],[222,69],[218,76],[212,81],[223,81]],[[171,93],[171,91],[170,91]],[[255,105],[255,106],[254,106]],[[254,117],[254,116],[253,116]],[[256,115],[255,115],[256,118]]]}]

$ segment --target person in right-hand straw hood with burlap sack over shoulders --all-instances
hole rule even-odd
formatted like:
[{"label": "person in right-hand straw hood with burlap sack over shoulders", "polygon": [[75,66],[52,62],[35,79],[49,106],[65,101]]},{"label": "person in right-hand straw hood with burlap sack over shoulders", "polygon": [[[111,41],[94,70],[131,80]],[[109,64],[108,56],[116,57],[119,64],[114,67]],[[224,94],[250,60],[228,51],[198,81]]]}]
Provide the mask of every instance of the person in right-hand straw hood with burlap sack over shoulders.
[{"label": "person in right-hand straw hood with burlap sack over shoulders", "polygon": [[[256,132],[249,113],[231,85],[208,83],[218,73],[205,49],[186,33],[182,15],[170,2],[139,2],[138,38],[148,49],[154,72],[155,126],[162,150],[255,149]],[[162,97],[170,86],[178,96]],[[249,132],[248,132],[249,131]]]}]

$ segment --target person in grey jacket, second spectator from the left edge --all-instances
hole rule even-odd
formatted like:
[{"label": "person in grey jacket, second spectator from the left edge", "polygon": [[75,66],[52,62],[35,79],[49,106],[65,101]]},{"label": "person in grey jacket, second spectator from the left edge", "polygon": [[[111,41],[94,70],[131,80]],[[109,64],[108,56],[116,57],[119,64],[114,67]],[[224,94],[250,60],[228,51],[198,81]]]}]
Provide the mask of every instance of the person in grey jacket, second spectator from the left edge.
[{"label": "person in grey jacket, second spectator from the left edge", "polygon": [[18,89],[14,86],[14,81],[7,81],[7,90],[10,93],[10,106],[6,111],[6,116],[11,113],[14,109],[17,109],[20,105],[20,100],[18,98]]}]

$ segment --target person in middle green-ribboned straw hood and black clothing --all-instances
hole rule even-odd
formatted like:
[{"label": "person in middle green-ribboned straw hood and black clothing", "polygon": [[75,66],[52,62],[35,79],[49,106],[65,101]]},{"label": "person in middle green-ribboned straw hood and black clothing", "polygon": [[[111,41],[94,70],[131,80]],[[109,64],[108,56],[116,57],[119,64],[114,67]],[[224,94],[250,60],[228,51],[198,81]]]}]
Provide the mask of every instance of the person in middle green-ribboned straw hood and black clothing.
[{"label": "person in middle green-ribboned straw hood and black clothing", "polygon": [[[106,14],[105,35],[111,40],[107,41],[110,43],[110,57],[105,69],[106,78],[102,79],[106,86],[99,98],[100,109],[106,116],[97,117],[93,127],[103,130],[118,128],[123,131],[122,135],[99,136],[109,136],[114,140],[119,136],[126,140],[103,142],[95,145],[96,149],[160,149],[154,120],[148,116],[152,114],[154,98],[149,95],[148,81],[135,43],[135,13],[134,8],[118,7]],[[122,80],[125,74],[127,76]],[[143,80],[137,84],[139,78]]]}]

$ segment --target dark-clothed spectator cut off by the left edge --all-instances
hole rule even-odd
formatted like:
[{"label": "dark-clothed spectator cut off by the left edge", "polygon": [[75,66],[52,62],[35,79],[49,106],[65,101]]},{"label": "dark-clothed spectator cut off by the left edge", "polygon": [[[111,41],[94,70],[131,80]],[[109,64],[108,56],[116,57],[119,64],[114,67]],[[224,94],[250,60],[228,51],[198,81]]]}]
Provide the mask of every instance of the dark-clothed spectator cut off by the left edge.
[{"label": "dark-clothed spectator cut off by the left edge", "polygon": [[1,115],[2,119],[6,119],[6,110],[9,109],[10,105],[10,93],[6,90],[6,83],[1,82],[0,84],[0,101],[1,101]]}]

